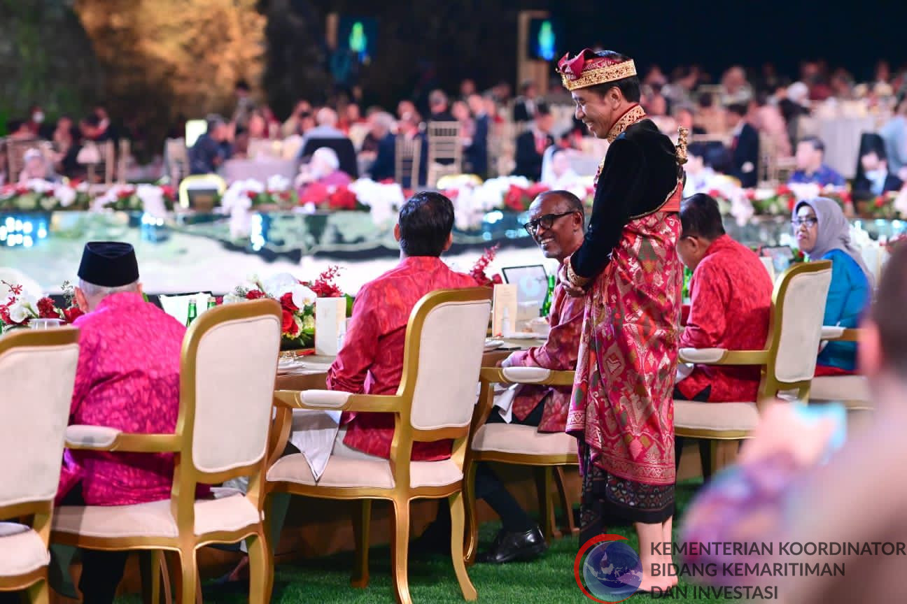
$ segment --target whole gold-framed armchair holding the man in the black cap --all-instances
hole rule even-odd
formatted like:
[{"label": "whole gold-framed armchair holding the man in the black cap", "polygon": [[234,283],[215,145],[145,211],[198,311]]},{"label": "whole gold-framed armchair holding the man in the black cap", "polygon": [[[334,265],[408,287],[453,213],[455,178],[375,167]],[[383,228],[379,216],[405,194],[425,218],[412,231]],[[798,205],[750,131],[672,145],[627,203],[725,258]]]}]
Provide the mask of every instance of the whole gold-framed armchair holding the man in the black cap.
[{"label": "whole gold-framed armchair holding the man in the black cap", "polygon": [[[210,543],[247,540],[249,602],[268,602],[273,569],[262,520],[263,483],[280,346],[280,308],[273,300],[219,306],[192,323],[180,359],[180,414],[173,434],[126,434],[110,427],[71,426],[66,446],[132,453],[174,453],[171,498],[117,506],[63,506],[52,539],[93,550],[153,551],[180,557],[182,604],[198,590],[196,551]],[[229,413],[224,410],[229,409]],[[249,476],[249,492],[195,498],[199,484]],[[159,575],[151,575],[158,601]]]}]

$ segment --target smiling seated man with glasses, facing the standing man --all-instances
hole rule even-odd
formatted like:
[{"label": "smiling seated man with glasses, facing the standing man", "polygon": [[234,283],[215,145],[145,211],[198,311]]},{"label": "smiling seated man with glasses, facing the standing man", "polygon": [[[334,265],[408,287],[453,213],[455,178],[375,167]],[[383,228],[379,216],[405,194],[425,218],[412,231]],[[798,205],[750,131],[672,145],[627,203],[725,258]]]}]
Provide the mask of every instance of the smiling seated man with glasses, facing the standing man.
[{"label": "smiling seated man with glasses, facing the standing man", "polygon": [[[530,221],[525,228],[546,258],[563,264],[582,244],[583,207],[580,199],[568,191],[546,191],[536,197],[529,208]],[[543,367],[572,371],[576,369],[580,348],[580,330],[584,301],[571,298],[559,282],[554,287],[549,324],[551,331],[541,346],[513,352],[502,360],[502,367]],[[508,409],[495,408],[489,423],[506,422],[536,426],[540,432],[563,432],[570,408],[570,386],[519,387]],[[501,480],[487,464],[479,464],[475,475],[475,495],[484,499],[501,517],[503,528],[488,551],[479,553],[478,561],[502,563],[531,560],[547,548],[539,525],[522,509]],[[425,532],[423,546],[439,550],[450,548],[450,525],[447,508],[439,508],[438,519]]]}]

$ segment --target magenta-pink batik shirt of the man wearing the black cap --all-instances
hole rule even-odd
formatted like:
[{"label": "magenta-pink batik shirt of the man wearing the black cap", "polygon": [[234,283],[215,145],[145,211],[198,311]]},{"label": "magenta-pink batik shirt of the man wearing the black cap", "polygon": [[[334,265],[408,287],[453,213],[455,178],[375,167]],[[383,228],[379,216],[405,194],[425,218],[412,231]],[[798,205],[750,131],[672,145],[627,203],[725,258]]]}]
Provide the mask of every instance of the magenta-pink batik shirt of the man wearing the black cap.
[{"label": "magenta-pink batik shirt of the man wearing the black cap", "polygon": [[[79,365],[69,423],[172,433],[186,328],[133,292],[107,296],[73,325],[79,328]],[[67,450],[57,501],[80,480],[88,505],[168,499],[173,455]]]}]

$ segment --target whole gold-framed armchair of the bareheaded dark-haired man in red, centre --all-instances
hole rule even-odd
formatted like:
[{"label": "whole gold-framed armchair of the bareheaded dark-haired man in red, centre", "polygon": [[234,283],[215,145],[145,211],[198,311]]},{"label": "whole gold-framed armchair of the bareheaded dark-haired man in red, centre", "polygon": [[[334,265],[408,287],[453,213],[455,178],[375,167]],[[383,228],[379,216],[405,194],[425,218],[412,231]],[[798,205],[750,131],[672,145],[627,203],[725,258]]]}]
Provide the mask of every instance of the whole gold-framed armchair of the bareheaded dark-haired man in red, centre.
[{"label": "whole gold-framed armchair of the bareheaded dark-haired man in red, centre", "polygon": [[[463,598],[477,598],[463,562],[463,462],[491,298],[490,288],[439,290],[426,294],[415,305],[406,325],[403,376],[395,395],[327,390],[275,393],[277,429],[282,436],[274,449],[277,451],[285,446],[294,408],[394,414],[390,459],[366,460],[335,452],[318,480],[302,454],[281,457],[268,469],[268,494],[362,500],[353,518],[356,568],[351,583],[354,587],[368,585],[371,501],[390,501],[394,508],[391,572],[395,598],[400,604],[410,604],[407,575],[410,502],[446,498],[451,510],[453,569]],[[445,439],[453,440],[450,459],[410,460],[414,442]]]}]

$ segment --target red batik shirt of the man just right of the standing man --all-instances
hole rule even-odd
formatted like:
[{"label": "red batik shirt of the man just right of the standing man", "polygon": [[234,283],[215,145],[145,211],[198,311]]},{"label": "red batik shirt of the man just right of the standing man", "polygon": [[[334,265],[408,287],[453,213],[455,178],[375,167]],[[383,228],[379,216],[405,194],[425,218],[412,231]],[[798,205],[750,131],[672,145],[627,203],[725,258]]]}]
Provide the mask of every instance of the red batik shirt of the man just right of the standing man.
[{"label": "red batik shirt of the man just right of the standing man", "polygon": [[[721,235],[690,280],[690,311],[680,348],[762,350],[768,334],[773,283],[755,252]],[[753,401],[759,368],[696,365],[678,381],[685,398],[711,386],[711,402]]]}]

